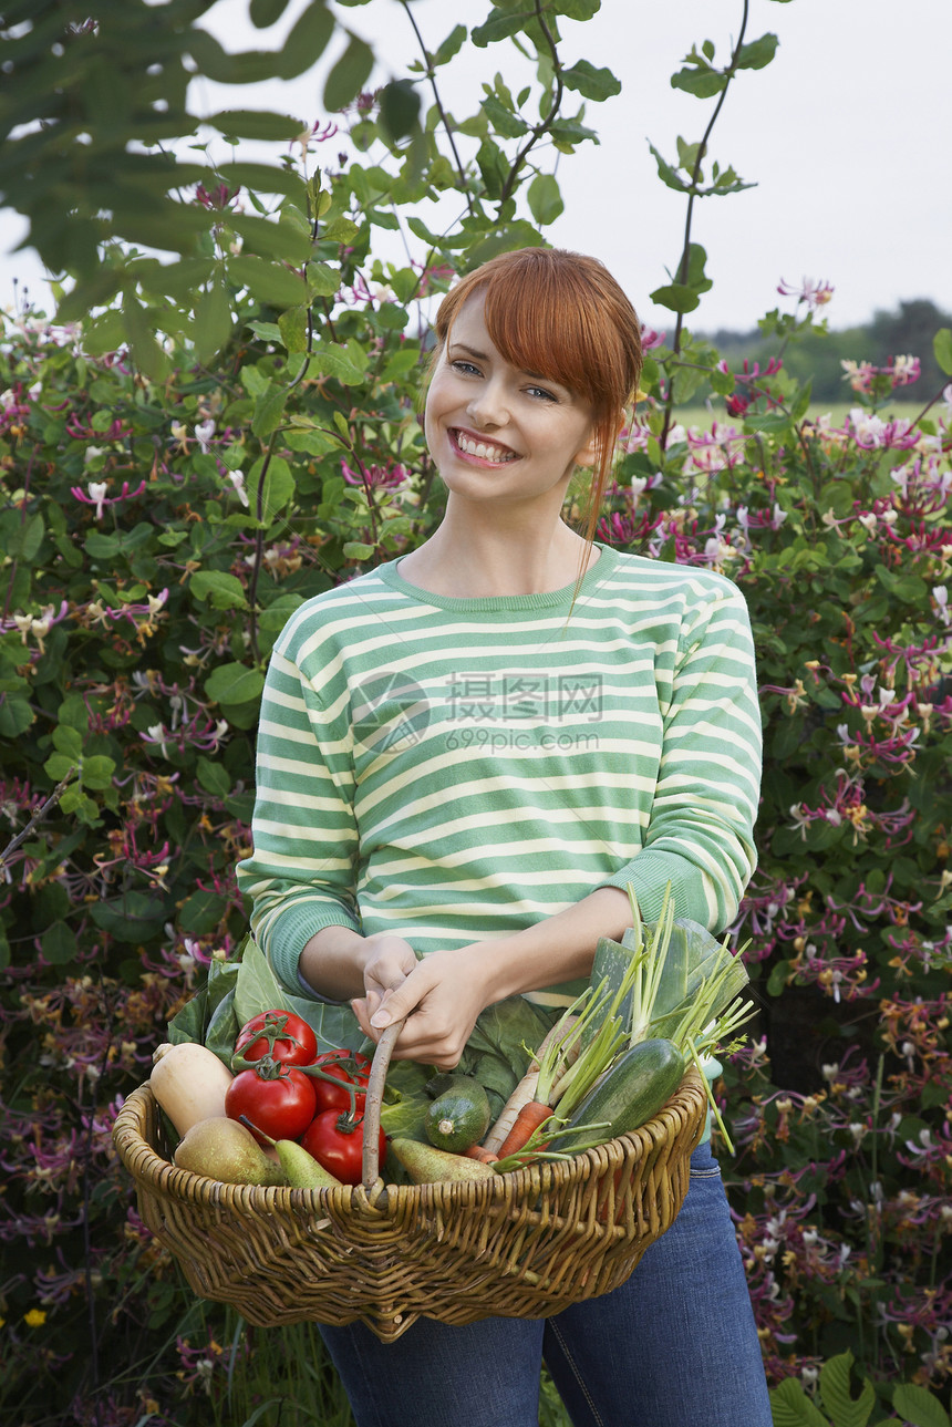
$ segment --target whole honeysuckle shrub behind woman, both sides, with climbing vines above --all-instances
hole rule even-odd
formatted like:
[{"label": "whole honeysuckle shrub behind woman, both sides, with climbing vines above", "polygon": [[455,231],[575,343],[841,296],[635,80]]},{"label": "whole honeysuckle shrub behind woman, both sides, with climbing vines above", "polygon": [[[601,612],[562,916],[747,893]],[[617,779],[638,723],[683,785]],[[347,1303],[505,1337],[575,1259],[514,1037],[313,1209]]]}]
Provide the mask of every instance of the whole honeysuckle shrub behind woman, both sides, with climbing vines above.
[{"label": "whole honeysuckle shrub behind woman, both sides, with climbing vines above", "polygon": [[[363,94],[285,154],[277,198],[247,167],[197,183],[194,251],[168,274],[107,248],[98,291],[121,294],[81,327],[4,320],[0,1404],[23,1423],[231,1421],[243,1374],[240,1410],[264,1410],[254,1364],[293,1370],[183,1290],[110,1127],[244,936],[234,865],[274,638],[440,519],[417,417],[431,304],[454,271],[544,241],[561,198],[540,153],[591,141],[565,104],[617,83],[561,59],[558,13],[592,6],[495,6],[424,51],[427,84],[470,40],[535,56],[528,93],[497,76],[452,146],[445,104],[394,137]],[[679,87],[722,96],[771,41],[742,27],[721,68],[695,50]],[[659,174],[689,200],[742,186],[722,167],[705,188],[702,146],[678,157]],[[428,205],[447,194],[465,214],[444,231]],[[418,244],[398,261],[378,255],[394,225]],[[822,330],[829,287],[785,294],[762,324],[774,352],[731,367],[685,323],[705,261],[688,235],[652,294],[672,331],[647,334],[599,538],[748,598],[766,761],[734,935],[761,1013],[721,1082],[731,1202],[771,1381],[809,1390],[849,1349],[872,1420],[902,1420],[892,1384],[948,1393],[951,1351],[951,392],[893,418],[916,390],[899,354],[856,364],[845,424],[809,420],[784,352]],[[685,430],[702,382],[711,421]]]}]

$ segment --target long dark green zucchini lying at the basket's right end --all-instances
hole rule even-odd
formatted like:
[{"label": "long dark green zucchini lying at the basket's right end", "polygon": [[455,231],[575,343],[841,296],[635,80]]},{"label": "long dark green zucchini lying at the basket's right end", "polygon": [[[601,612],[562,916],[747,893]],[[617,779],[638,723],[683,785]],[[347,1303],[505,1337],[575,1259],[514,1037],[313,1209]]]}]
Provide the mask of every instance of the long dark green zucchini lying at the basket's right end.
[{"label": "long dark green zucchini lying at the basket's right end", "polygon": [[[565,1126],[578,1127],[578,1133],[559,1134],[558,1149],[574,1154],[591,1144],[595,1134],[604,1143],[637,1130],[667,1104],[685,1069],[687,1062],[671,1040],[639,1040],[599,1076]],[[604,1130],[582,1129],[602,1123]]]}]

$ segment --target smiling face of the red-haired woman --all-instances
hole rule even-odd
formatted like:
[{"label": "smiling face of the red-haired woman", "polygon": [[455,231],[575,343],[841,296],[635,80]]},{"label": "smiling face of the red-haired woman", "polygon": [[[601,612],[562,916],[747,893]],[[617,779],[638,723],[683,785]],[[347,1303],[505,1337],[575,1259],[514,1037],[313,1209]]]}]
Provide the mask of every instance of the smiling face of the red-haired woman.
[{"label": "smiling face of the red-haired woman", "polygon": [[541,372],[511,367],[474,293],[460,308],[427,395],[425,435],[451,492],[561,508],[577,465],[591,465],[592,410]]}]

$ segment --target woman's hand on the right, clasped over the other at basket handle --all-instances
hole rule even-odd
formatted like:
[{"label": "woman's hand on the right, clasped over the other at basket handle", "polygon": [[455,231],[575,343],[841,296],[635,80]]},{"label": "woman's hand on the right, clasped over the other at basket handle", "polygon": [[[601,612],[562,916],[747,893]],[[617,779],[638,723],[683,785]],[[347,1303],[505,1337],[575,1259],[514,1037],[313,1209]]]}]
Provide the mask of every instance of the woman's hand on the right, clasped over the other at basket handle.
[{"label": "woman's hand on the right, clasped over the other at basket handle", "polygon": [[478,950],[478,946],[461,946],[425,956],[373,1017],[367,1016],[364,1002],[353,1002],[361,1030],[371,1040],[380,1040],[388,1025],[405,1016],[394,1059],[452,1070],[477,1016],[488,1005]]}]

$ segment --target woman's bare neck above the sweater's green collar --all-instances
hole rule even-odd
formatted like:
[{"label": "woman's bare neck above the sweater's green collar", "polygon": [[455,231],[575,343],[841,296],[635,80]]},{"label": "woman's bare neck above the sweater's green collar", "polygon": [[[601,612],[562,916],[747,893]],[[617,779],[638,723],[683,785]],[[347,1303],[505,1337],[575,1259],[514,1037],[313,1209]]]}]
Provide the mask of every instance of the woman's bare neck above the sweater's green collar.
[{"label": "woman's bare neck above the sweater's green collar", "polygon": [[598,552],[558,519],[554,528],[511,521],[505,527],[450,499],[435,534],[400,564],[411,585],[434,595],[477,599],[492,595],[544,595],[564,589],[591,568]]}]

